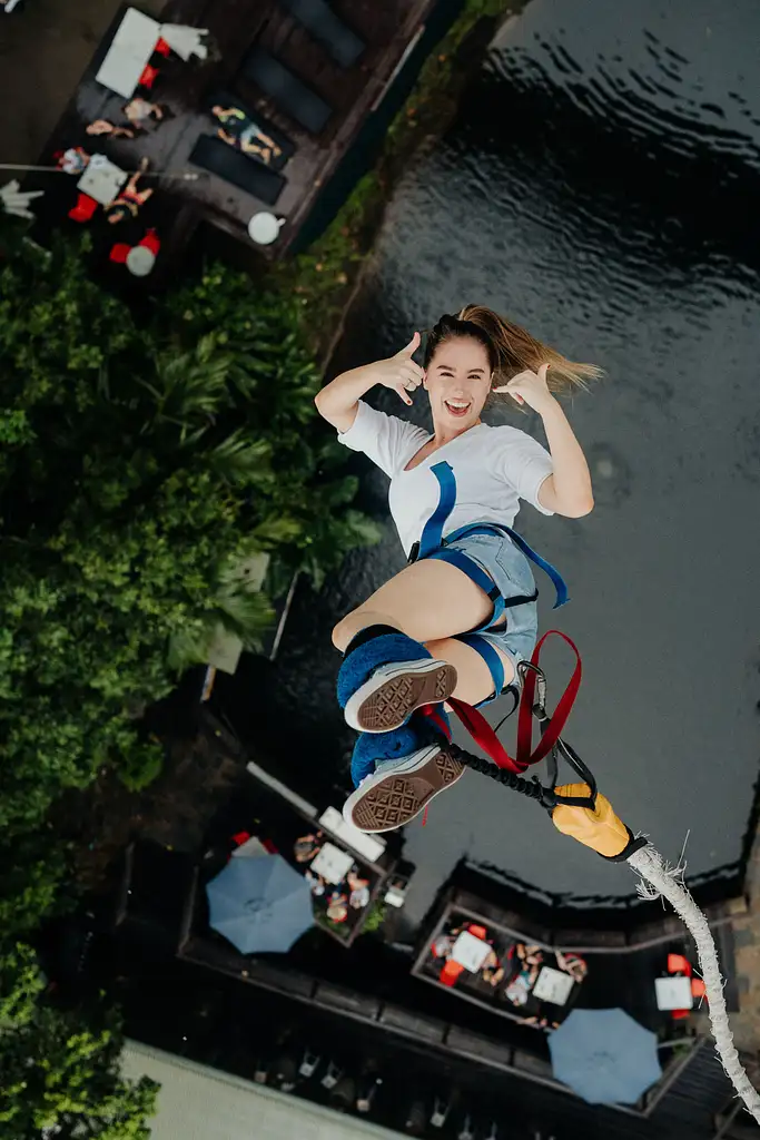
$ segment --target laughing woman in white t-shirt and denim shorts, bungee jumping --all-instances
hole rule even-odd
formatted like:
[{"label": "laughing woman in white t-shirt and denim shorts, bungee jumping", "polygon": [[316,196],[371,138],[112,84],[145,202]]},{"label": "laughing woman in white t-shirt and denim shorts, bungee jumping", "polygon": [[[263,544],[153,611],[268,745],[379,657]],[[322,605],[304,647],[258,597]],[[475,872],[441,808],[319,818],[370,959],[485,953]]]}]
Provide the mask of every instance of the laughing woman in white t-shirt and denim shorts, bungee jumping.
[{"label": "laughing woman in white t-shirt and denim shorts, bungee jumping", "polygon": [[[518,500],[572,519],[594,506],[588,465],[554,392],[583,386],[598,368],[482,306],[441,318],[423,367],[412,359],[419,343],[415,333],[395,356],[337,376],[316,399],[340,441],[391,477],[391,514],[410,561],[333,632],[345,654],[338,701],[361,733],[344,816],[363,831],[402,826],[461,776],[447,748],[449,697],[480,705],[520,684],[517,665],[538,633],[529,557],[563,600],[554,568],[510,529]],[[433,433],[366,404],[376,384],[409,406],[422,385]],[[493,392],[540,415],[548,451],[516,427],[481,421]]]}]

